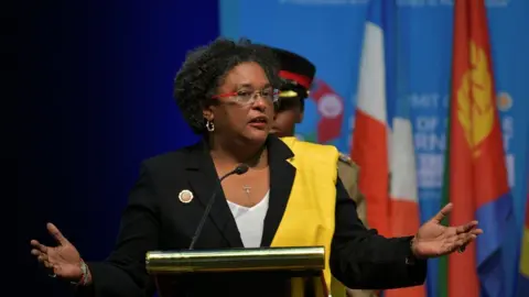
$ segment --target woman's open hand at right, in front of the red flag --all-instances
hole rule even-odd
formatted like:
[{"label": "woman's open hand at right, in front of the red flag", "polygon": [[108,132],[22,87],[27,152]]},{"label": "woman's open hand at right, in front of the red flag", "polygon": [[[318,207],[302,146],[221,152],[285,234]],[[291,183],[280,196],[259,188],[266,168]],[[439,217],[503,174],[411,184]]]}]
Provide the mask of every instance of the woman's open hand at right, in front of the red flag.
[{"label": "woman's open hand at right, in front of the red flag", "polygon": [[442,226],[441,221],[452,208],[452,204],[447,204],[435,217],[419,228],[411,245],[418,258],[436,257],[456,250],[463,252],[468,243],[483,233],[482,229],[476,228],[477,221],[457,227]]}]

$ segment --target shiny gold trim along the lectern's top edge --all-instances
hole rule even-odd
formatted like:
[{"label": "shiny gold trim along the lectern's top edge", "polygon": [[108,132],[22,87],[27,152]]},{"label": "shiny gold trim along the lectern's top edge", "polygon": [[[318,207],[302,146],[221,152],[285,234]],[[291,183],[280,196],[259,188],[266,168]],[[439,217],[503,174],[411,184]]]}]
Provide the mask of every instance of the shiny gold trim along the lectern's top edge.
[{"label": "shiny gold trim along the lectern's top edge", "polygon": [[245,271],[322,271],[325,249],[266,248],[193,251],[151,251],[147,271],[156,273],[245,272]]}]

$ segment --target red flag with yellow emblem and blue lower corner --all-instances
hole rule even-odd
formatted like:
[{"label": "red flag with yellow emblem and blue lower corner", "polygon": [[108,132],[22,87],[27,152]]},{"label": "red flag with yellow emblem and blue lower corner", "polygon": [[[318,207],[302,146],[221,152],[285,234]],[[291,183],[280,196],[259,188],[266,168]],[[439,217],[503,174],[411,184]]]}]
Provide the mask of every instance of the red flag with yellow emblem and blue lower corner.
[{"label": "red flag with yellow emblem and blue lower corner", "polygon": [[504,296],[501,234],[511,213],[510,189],[484,0],[454,1],[452,89],[443,202],[452,226],[478,220],[485,233],[462,254],[440,262],[440,297]]}]

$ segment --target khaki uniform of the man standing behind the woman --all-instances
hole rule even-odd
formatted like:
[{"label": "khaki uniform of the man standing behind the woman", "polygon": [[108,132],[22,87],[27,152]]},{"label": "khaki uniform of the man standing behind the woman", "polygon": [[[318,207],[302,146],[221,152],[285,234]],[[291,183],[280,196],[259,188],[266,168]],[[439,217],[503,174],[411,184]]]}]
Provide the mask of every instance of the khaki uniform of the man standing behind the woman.
[{"label": "khaki uniform of the man standing behind the woman", "polygon": [[[349,197],[356,202],[356,212],[364,226],[367,227],[366,199],[358,190],[358,166],[345,154],[339,154],[338,176],[344,184]],[[349,297],[375,297],[378,296],[375,290],[347,289]]]}]

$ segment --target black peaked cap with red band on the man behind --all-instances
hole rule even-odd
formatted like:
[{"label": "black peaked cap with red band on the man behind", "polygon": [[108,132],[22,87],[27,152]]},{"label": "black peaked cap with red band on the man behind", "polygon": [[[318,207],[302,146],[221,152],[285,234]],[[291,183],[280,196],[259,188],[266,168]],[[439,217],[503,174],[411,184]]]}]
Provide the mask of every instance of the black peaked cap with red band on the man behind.
[{"label": "black peaked cap with red band on the man behind", "polygon": [[280,63],[279,76],[285,81],[281,87],[280,97],[306,98],[316,73],[316,66],[305,57],[292,52],[276,47],[271,47],[271,50]]}]

